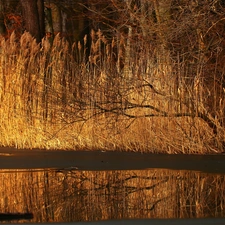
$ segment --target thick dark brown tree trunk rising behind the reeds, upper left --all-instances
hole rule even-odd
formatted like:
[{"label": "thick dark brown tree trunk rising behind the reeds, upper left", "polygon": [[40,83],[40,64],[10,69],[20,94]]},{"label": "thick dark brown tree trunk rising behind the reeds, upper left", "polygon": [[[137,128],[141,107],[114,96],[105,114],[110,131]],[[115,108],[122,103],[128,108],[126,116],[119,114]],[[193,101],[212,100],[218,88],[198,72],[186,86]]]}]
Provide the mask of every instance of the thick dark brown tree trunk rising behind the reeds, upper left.
[{"label": "thick dark brown tree trunk rising behind the reeds, upper left", "polygon": [[37,40],[37,42],[40,42],[43,36],[43,31],[41,31],[41,29],[43,29],[41,16],[43,16],[43,14],[41,12],[39,15],[39,10],[43,10],[43,6],[41,6],[41,2],[43,2],[43,0],[20,0],[20,2],[25,29]]}]

